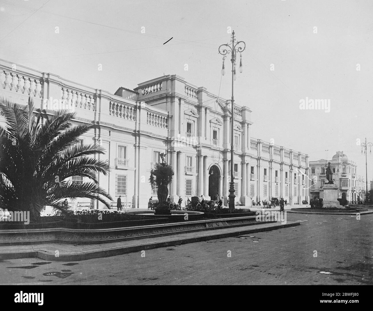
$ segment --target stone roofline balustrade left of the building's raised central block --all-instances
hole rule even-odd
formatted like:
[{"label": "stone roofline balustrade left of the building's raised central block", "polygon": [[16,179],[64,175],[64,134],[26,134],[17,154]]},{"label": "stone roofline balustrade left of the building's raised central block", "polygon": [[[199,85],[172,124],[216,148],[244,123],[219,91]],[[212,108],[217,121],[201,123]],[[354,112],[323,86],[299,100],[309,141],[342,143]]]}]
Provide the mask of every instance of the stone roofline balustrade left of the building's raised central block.
[{"label": "stone roofline balustrade left of the building's raised central block", "polygon": [[170,116],[167,111],[2,59],[0,96],[18,104],[26,104],[30,96],[34,98],[35,108],[46,109],[47,113],[51,110],[69,109],[76,111],[78,119],[100,121],[108,126],[123,126],[122,120],[130,121],[125,126],[132,129],[135,129],[135,123],[140,120],[138,113],[144,113],[138,129],[153,132],[152,128],[157,127],[160,129],[157,131],[159,135],[168,136]]}]

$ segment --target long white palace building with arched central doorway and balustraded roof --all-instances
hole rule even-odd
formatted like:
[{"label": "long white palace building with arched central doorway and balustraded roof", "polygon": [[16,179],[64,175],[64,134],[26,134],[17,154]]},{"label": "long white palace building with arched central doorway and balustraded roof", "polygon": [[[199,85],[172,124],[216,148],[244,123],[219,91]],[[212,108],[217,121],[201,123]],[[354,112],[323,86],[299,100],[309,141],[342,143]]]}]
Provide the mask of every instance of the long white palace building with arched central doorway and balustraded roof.
[{"label": "long white palace building with arched central doorway and balustraded roof", "polygon": [[[115,201],[120,195],[122,202],[146,208],[150,196],[156,196],[148,181],[150,171],[166,153],[175,171],[169,186],[175,201],[179,196],[185,202],[195,195],[218,195],[227,202],[231,101],[181,76],[161,76],[111,94],[0,60],[0,96],[19,104],[31,96],[37,108],[57,99],[76,111],[76,122],[93,123],[82,141],[107,150],[97,157],[108,161],[110,173],[98,180]],[[290,204],[308,201],[307,154],[252,138],[251,110],[245,105],[235,106],[233,122],[236,202],[250,206],[272,197]],[[92,203],[103,208],[101,202]]]}]

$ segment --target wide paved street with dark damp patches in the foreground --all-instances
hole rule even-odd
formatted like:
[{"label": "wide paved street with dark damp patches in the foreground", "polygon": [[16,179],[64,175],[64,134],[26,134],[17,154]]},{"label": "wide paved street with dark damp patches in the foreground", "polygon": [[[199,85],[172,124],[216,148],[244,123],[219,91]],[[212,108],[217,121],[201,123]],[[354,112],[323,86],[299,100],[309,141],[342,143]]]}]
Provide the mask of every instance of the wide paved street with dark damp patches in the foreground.
[{"label": "wide paved street with dark damp patches in the foreground", "polygon": [[145,257],[136,252],[72,263],[3,260],[0,283],[373,285],[372,214],[361,220],[346,215],[287,216],[301,225],[149,249]]}]

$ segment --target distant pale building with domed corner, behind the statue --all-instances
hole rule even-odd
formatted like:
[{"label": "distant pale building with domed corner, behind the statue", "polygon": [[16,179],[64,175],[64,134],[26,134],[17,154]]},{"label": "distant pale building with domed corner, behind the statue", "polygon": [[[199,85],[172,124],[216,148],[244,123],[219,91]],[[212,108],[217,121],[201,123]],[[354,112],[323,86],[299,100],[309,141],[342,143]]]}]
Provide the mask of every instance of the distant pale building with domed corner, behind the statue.
[{"label": "distant pale building with domed corner, behind the statue", "polygon": [[348,159],[343,151],[337,151],[331,160],[320,159],[310,161],[309,188],[310,198],[323,198],[323,186],[328,183],[326,179],[326,167],[328,163],[333,167],[334,184],[338,187],[338,199],[350,204],[358,204],[364,201],[365,195],[361,191],[361,183],[365,179],[357,176],[357,165]]}]

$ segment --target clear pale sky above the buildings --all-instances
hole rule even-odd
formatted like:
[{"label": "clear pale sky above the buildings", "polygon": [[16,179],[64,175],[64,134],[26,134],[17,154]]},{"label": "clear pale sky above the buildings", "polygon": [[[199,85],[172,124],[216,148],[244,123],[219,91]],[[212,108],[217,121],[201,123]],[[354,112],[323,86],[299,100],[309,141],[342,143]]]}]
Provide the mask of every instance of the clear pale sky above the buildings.
[{"label": "clear pale sky above the buildings", "polygon": [[[231,27],[246,43],[235,101],[253,110],[251,136],[310,160],[343,150],[365,176],[357,142],[373,142],[372,12],[372,0],[0,0],[0,58],[112,93],[177,74],[218,94]],[[306,97],[330,100],[330,112],[301,110]]]}]

